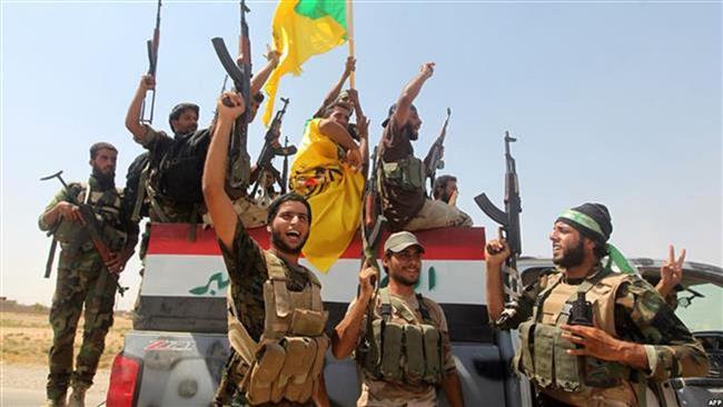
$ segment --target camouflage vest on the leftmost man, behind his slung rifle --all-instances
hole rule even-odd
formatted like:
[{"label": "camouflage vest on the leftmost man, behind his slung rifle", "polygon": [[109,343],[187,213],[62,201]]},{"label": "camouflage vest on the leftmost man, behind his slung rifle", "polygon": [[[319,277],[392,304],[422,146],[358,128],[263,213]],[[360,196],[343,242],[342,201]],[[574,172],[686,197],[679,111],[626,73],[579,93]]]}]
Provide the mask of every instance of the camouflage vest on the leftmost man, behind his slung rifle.
[{"label": "camouflage vest on the leftmost man, behind his slung rifle", "polygon": [[[88,190],[90,189],[90,193]],[[122,189],[111,188],[105,191],[96,191],[89,183],[71,183],[67,191],[69,200],[90,205],[98,224],[101,236],[111,250],[120,250],[128,240],[120,217]],[[56,229],[53,237],[67,252],[89,251],[93,249],[92,241],[86,227],[77,221],[62,219]]]}]

